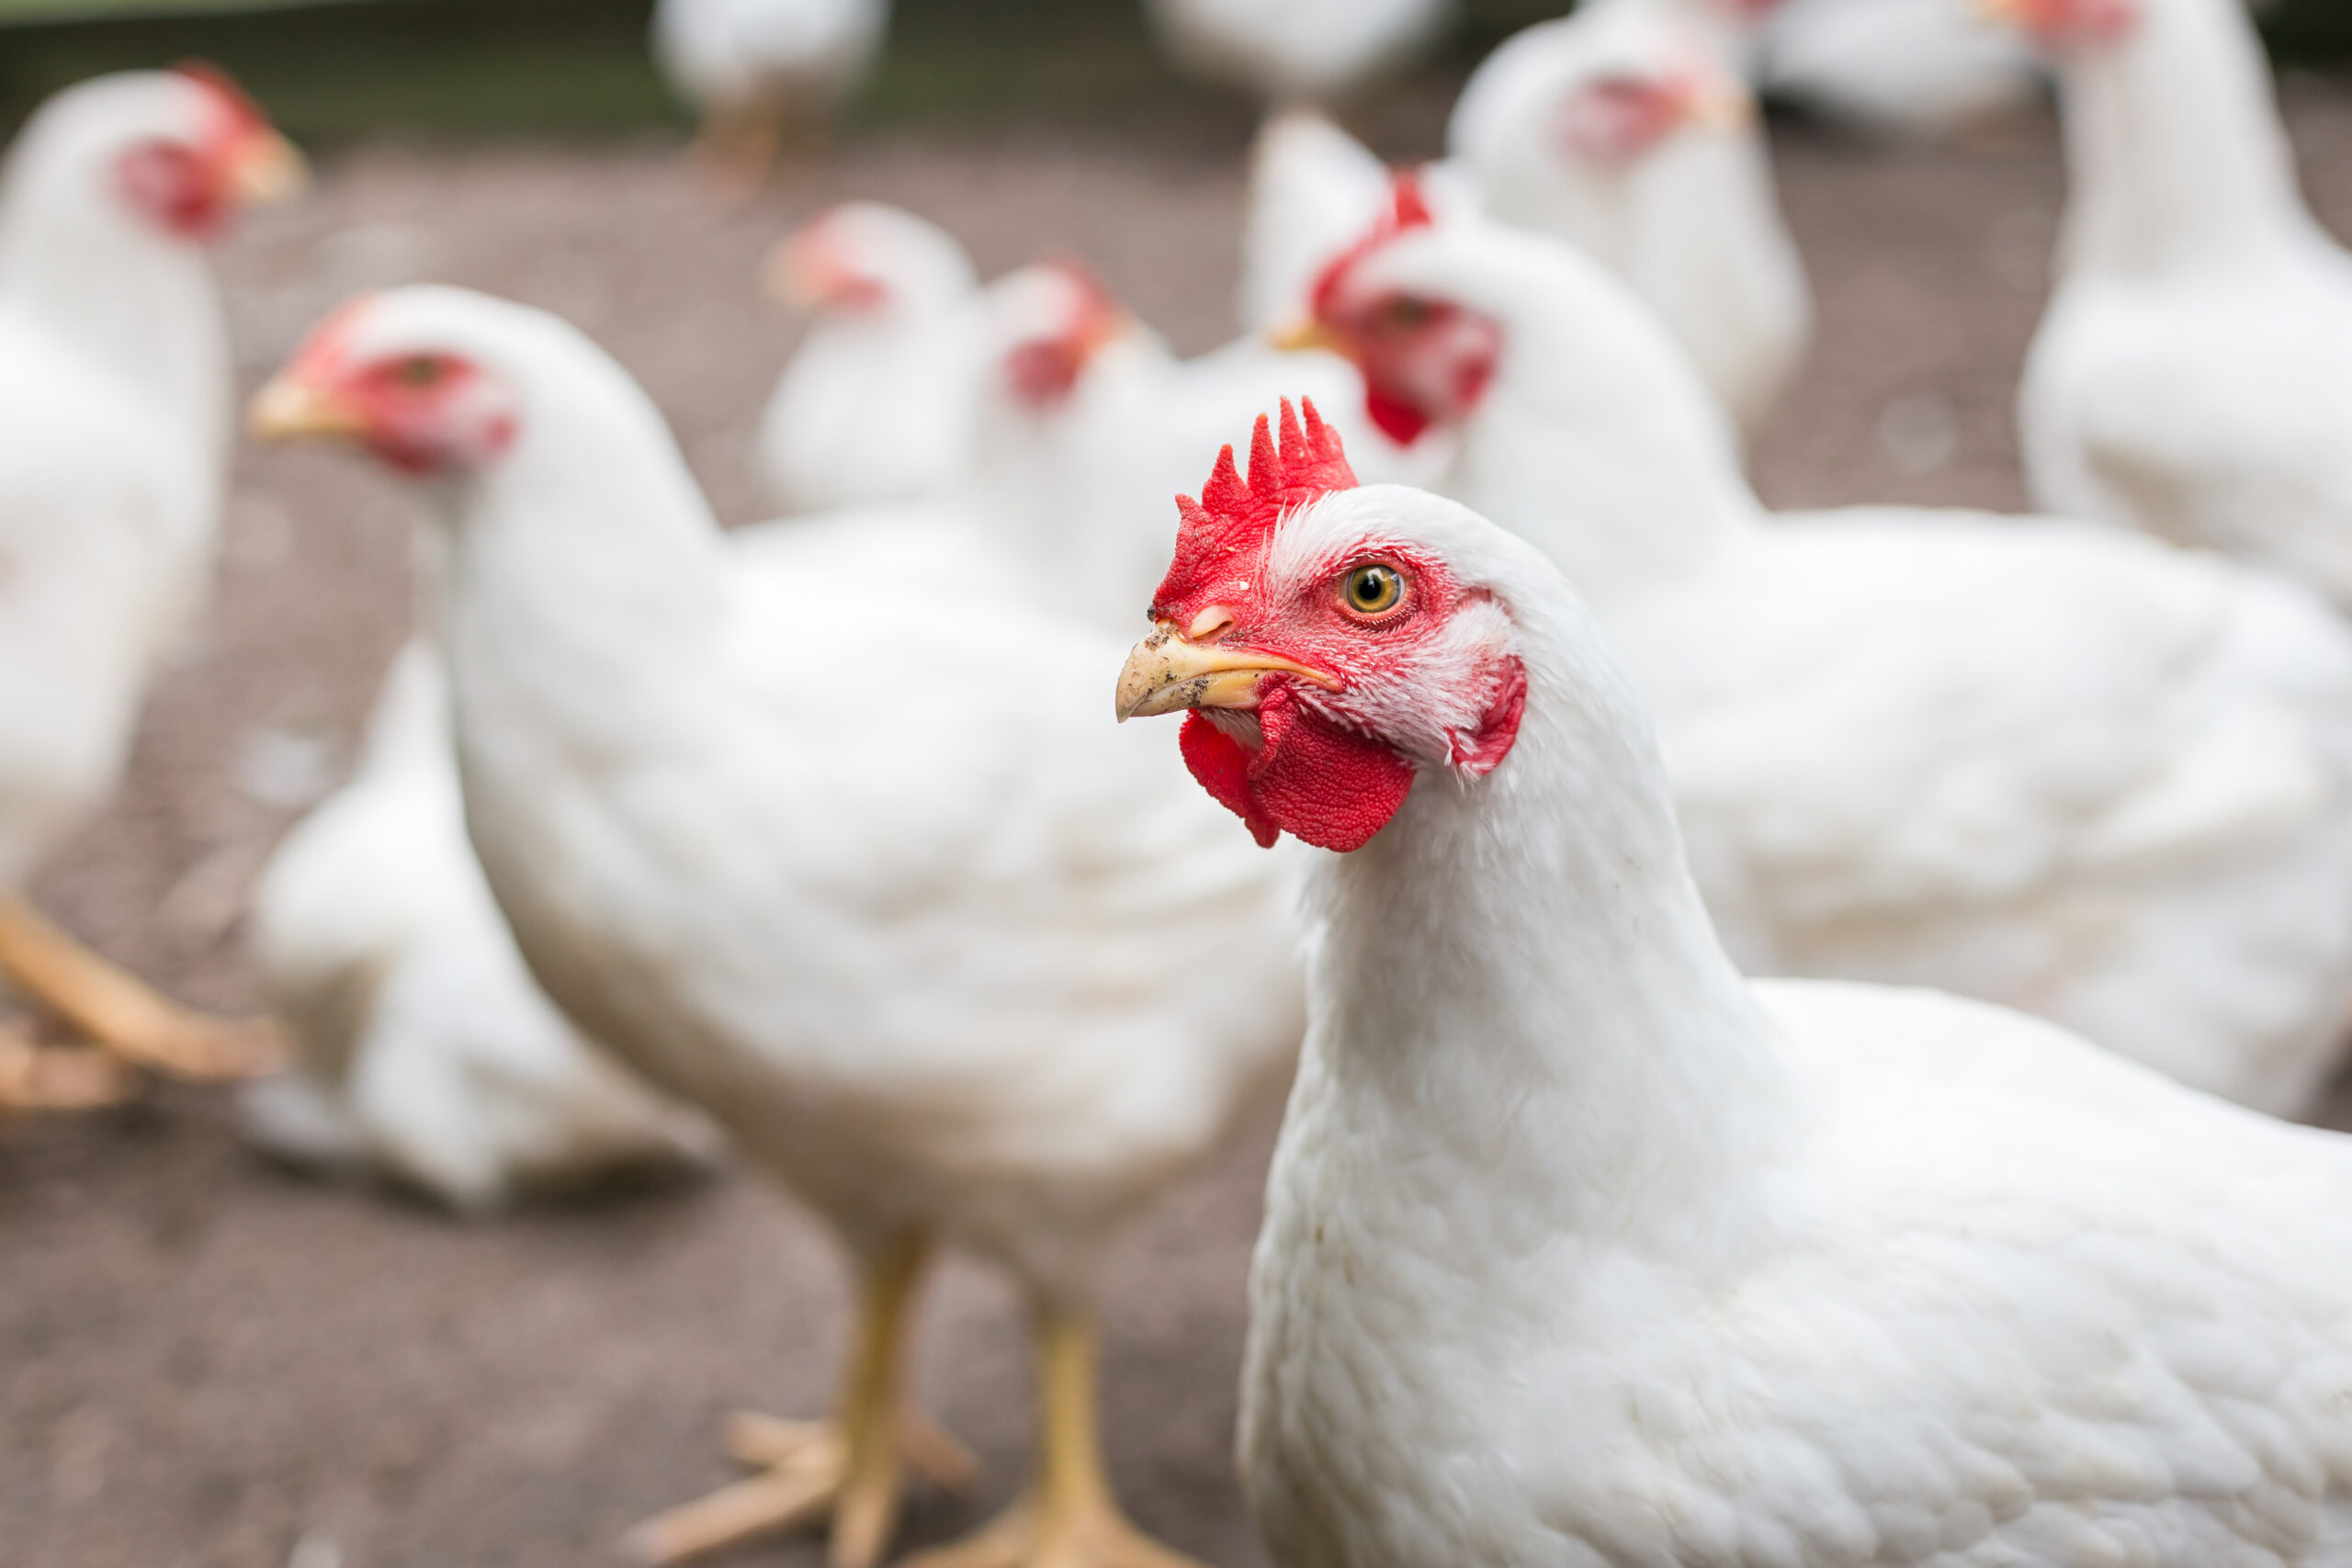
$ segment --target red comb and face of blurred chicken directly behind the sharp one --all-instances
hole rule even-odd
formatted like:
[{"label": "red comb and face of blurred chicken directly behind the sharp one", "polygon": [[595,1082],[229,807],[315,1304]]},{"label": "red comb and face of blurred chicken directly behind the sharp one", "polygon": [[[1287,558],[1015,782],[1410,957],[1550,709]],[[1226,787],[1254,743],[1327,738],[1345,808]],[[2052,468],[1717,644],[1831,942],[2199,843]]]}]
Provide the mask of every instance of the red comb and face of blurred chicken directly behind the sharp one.
[{"label": "red comb and face of blurred chicken directly behind the sharp one", "polygon": [[1367,259],[1428,226],[1418,183],[1399,174],[1392,212],[1315,282],[1315,322],[1364,374],[1364,416],[1399,447],[1430,425],[1468,418],[1503,357],[1503,329],[1484,315],[1357,282]]}]

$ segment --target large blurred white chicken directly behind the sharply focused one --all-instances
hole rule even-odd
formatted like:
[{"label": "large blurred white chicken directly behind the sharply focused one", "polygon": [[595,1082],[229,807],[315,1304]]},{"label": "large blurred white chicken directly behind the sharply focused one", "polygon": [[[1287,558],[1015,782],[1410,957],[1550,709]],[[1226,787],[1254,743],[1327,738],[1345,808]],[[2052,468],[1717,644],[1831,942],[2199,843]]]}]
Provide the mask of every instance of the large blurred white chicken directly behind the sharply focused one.
[{"label": "large blurred white chicken directly behind the sharply focused one", "polygon": [[2352,632],[2077,522],[1769,517],[1663,331],[1581,254],[1418,221],[1324,280],[1439,489],[1534,541],[1658,715],[1750,973],[1936,985],[2298,1110],[2352,1001]]}]

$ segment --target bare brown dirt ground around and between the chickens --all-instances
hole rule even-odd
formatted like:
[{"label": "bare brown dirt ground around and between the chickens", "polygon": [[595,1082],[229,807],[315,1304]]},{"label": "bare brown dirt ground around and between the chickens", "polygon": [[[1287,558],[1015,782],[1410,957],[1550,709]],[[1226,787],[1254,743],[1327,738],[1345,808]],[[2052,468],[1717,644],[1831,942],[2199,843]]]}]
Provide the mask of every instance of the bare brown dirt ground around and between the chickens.
[{"label": "bare brown dirt ground around and between the chickens", "polygon": [[[2352,94],[2298,80],[2288,101],[2312,197],[2352,233]],[[1757,442],[1764,494],[2020,505],[2011,390],[2058,221],[2053,125],[1943,150],[1804,127],[1778,143],[1820,334]],[[988,270],[1075,249],[1181,348],[1230,320],[1225,132],[861,141],[734,216],[687,188],[673,143],[367,146],[320,174],[223,256],[247,383],[360,287],[513,294],[644,378],[729,520],[755,515],[753,423],[795,334],[753,268],[826,197],[910,205]],[[407,625],[409,524],[350,461],[240,454],[212,630],[155,691],[120,804],[42,879],[47,907],[191,999],[259,1006],[240,900],[348,766]],[[1148,1528],[1228,1566],[1263,1561],[1228,1450],[1268,1140],[1254,1128],[1167,1204],[1110,1305],[1115,1481]],[[724,1410],[823,1408],[842,1316],[818,1227],[746,1178],[466,1225],[266,1166],[219,1095],[0,1126],[0,1563],[616,1563],[628,1523],[731,1476]],[[917,1544],[1021,1476],[1023,1347],[995,1279],[943,1274],[920,1392],[988,1481],[922,1502]],[[743,1561],[821,1556],[802,1540]]]}]

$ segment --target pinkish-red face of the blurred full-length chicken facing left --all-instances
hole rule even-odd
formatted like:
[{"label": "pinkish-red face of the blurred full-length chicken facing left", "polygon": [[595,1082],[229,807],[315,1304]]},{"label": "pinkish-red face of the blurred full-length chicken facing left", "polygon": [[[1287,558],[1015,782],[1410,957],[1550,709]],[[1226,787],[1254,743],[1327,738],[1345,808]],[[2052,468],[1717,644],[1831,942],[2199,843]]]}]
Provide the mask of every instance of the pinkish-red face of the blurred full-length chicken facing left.
[{"label": "pinkish-red face of the blurred full-length chicken facing left", "polygon": [[327,317],[287,364],[287,376],[358,423],[358,440],[390,468],[430,477],[480,468],[515,444],[506,390],[456,353],[355,357],[355,313]]}]

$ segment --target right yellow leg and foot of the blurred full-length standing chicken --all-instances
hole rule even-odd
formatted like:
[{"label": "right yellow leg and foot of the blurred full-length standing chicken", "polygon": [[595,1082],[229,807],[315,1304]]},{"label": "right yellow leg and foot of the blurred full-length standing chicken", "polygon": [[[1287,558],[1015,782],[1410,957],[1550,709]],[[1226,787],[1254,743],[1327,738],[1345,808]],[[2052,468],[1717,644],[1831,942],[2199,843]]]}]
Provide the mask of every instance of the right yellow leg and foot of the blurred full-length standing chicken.
[{"label": "right yellow leg and foot of the blurred full-length standing chicken", "polygon": [[978,1533],[906,1568],[1200,1568],[1143,1535],[1110,1495],[1096,1432],[1098,1333],[1080,1314],[1037,1316],[1037,1474]]}]

